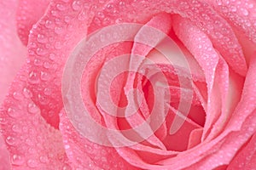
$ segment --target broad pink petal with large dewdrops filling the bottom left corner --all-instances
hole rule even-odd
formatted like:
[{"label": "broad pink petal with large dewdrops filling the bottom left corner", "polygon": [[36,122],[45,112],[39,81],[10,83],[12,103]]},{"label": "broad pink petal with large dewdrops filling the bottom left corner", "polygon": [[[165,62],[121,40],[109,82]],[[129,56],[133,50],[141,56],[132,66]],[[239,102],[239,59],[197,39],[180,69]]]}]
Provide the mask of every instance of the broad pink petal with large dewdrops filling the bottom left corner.
[{"label": "broad pink petal with large dewdrops filling the bottom left corner", "polygon": [[61,133],[50,127],[27,89],[28,72],[22,69],[0,111],[1,129],[15,169],[69,167]]}]

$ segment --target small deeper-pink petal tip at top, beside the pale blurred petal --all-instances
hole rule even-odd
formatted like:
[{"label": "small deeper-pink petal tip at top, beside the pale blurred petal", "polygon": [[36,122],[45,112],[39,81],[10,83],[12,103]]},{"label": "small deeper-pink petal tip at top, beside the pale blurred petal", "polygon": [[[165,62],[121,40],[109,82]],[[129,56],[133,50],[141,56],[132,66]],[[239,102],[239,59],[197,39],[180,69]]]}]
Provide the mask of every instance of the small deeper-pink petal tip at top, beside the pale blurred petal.
[{"label": "small deeper-pink petal tip at top, beside the pale blurred petal", "polygon": [[43,16],[48,5],[49,0],[19,0],[17,26],[20,40],[24,45],[27,44],[29,31]]}]

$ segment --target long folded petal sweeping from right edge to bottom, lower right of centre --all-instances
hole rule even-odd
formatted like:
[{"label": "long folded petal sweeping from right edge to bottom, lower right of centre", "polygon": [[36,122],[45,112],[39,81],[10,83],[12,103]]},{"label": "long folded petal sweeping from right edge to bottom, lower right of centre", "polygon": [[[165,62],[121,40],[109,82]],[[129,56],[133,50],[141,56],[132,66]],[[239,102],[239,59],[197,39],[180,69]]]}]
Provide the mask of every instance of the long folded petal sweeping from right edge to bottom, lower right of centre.
[{"label": "long folded petal sweeping from right edge to bottom, lower right of centre", "polygon": [[[180,159],[180,156],[177,156],[161,161],[160,163],[169,168],[189,167],[191,164],[195,163],[190,169],[212,169],[230,163],[236,155],[237,150],[239,150],[256,131],[254,121],[256,118],[256,75],[254,74],[256,71],[256,58],[252,57],[251,59],[241,101],[237,105],[224,132],[210,142],[202,143],[191,150],[183,152],[183,154],[180,154],[182,159]],[[236,139],[236,142],[234,142],[234,139]],[[193,157],[193,159],[190,159],[191,157]],[[183,160],[186,161],[183,162]]]}]

